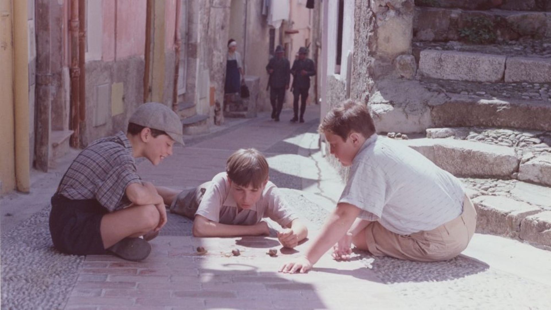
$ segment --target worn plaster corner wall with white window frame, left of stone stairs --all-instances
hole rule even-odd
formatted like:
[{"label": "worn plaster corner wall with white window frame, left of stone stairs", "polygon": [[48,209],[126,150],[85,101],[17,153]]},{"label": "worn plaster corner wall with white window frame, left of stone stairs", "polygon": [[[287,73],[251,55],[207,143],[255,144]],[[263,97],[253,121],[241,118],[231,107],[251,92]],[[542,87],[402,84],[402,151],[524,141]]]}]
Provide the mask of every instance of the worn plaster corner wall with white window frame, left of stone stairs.
[{"label": "worn plaster corner wall with white window frame, left of stone stairs", "polygon": [[[337,37],[338,8],[333,7],[330,3],[327,16],[328,75],[338,71],[333,64],[336,47],[331,46]],[[369,105],[379,132],[420,132],[430,126],[426,102],[441,98],[401,78],[395,69],[398,56],[411,56],[413,8],[410,0],[344,2],[341,74],[329,76],[326,108],[349,97]],[[347,59],[348,50],[353,57]]]}]

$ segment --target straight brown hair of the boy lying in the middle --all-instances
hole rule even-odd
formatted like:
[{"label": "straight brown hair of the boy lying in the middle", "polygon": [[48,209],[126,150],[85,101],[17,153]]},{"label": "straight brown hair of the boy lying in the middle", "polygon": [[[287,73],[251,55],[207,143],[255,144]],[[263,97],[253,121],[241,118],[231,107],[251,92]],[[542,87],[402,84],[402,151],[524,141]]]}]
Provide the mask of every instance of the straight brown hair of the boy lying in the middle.
[{"label": "straight brown hair of the boy lying in the middle", "polygon": [[239,186],[260,188],[268,180],[268,162],[256,149],[240,149],[228,158],[226,172],[231,182]]}]

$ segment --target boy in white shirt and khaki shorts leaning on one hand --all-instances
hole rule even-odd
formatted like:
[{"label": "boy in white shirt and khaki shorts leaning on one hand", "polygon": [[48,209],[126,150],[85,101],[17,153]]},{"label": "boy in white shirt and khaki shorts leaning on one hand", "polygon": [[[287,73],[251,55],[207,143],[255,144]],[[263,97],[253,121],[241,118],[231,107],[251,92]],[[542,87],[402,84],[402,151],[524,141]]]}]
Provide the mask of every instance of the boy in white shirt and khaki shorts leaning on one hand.
[{"label": "boy in white shirt and khaki shorts leaning on one hand", "polygon": [[377,137],[365,105],[334,107],[319,131],[350,174],[320,235],[279,271],[304,273],[332,246],[335,259],[348,259],[354,244],[420,262],[451,259],[467,247],[477,220],[460,181],[417,151]]}]

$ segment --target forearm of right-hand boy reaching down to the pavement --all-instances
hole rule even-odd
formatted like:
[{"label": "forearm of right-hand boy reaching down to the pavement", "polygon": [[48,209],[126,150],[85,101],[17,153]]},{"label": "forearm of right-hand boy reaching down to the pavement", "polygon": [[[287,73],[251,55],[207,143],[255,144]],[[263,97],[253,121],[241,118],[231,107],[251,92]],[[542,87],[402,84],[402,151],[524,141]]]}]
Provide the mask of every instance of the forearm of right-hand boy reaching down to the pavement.
[{"label": "forearm of right-hand boy reaching down to the pavement", "polygon": [[312,264],[315,264],[325,252],[348,232],[359,213],[360,209],[353,205],[339,204],[337,209],[329,215],[329,219],[323,225],[320,235],[306,250],[306,258]]}]

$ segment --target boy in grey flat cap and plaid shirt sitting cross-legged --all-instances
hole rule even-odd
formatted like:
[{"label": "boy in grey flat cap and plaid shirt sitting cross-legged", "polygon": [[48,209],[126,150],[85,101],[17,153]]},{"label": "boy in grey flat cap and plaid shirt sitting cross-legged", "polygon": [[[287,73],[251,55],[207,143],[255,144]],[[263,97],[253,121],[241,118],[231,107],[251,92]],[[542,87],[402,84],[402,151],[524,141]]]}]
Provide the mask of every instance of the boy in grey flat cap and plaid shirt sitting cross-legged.
[{"label": "boy in grey flat cap and plaid shirt sitting cross-legged", "polygon": [[175,142],[183,144],[180,117],[149,102],[133,113],[126,134],[90,143],[52,197],[53,245],[67,254],[111,252],[128,260],[145,259],[151,252],[146,240],[165,225],[166,209],[158,189],[137,175],[134,158],[158,165],[172,155]]}]

